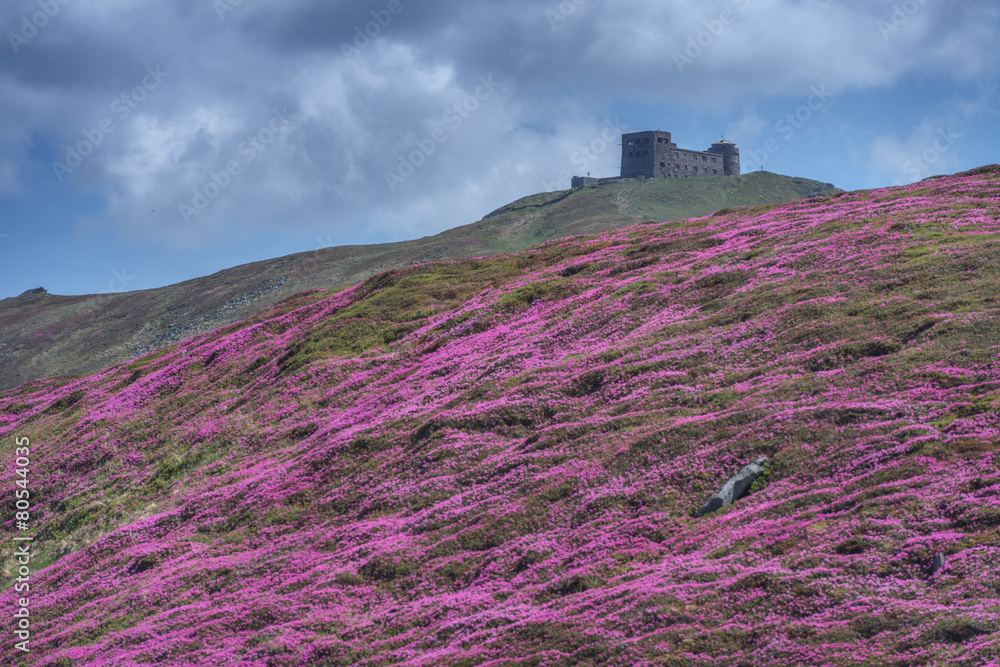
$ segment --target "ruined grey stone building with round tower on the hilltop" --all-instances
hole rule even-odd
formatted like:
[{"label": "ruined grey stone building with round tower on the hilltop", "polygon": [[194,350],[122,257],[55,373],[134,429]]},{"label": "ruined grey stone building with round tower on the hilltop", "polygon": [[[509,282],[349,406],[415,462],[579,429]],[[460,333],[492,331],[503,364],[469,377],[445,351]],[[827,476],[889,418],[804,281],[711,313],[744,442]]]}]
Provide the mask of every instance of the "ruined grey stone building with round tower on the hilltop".
[{"label": "ruined grey stone building with round tower on the hilltop", "polygon": [[572,187],[644,178],[739,176],[740,149],[722,139],[707,151],[677,148],[669,132],[650,130],[622,135],[622,170],[617,178],[574,176]]}]

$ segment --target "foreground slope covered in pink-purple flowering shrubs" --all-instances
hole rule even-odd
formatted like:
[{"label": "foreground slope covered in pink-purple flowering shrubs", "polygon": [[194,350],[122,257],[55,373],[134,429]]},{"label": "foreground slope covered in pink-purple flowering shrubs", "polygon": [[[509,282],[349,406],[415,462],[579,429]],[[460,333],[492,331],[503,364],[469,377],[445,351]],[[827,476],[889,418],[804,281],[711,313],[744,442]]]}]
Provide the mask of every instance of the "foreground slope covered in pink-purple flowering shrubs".
[{"label": "foreground slope covered in pink-purple flowering shrubs", "polygon": [[390,271],[2,393],[24,662],[997,664],[998,248],[983,168]]}]

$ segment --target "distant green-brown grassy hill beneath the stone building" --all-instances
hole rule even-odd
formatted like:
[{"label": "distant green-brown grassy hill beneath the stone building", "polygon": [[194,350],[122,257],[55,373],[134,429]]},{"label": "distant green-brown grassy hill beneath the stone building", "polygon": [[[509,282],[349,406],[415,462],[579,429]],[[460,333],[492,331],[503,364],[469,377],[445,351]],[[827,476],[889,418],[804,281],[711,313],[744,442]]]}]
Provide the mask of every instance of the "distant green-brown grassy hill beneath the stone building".
[{"label": "distant green-brown grassy hill beneath the stone building", "polygon": [[765,172],[647,181],[535,195],[480,222],[401,243],[340,246],[255,262],[162,289],[0,301],[0,389],[82,374],[246,319],[307,289],[343,289],[387,269],[521,250],[643,219],[678,220],[720,208],[839,192]]}]

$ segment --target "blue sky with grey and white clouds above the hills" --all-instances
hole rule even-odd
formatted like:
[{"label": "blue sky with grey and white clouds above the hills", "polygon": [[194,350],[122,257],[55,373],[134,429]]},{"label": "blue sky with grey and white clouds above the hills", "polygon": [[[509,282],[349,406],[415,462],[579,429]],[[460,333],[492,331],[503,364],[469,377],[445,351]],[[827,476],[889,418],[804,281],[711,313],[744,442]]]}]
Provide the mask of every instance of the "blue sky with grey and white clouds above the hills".
[{"label": "blue sky with grey and white clouds above the hills", "polygon": [[1000,162],[993,0],[5,0],[0,298],[429,236],[623,132],[844,189]]}]

